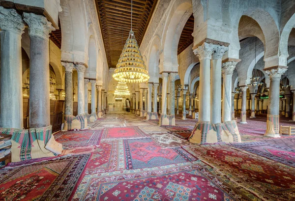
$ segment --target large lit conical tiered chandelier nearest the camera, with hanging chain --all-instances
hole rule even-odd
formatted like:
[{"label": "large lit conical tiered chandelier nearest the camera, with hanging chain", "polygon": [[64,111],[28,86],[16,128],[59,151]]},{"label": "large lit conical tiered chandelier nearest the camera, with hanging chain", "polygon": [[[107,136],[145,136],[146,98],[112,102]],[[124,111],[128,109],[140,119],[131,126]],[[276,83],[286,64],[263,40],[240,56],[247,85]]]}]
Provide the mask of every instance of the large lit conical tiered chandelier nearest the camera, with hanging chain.
[{"label": "large lit conical tiered chandelier nearest the camera, with hanging chain", "polygon": [[133,1],[131,0],[131,30],[118,60],[113,78],[116,81],[126,83],[143,83],[148,81],[149,75],[132,31],[132,8]]}]

